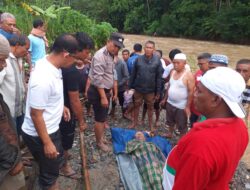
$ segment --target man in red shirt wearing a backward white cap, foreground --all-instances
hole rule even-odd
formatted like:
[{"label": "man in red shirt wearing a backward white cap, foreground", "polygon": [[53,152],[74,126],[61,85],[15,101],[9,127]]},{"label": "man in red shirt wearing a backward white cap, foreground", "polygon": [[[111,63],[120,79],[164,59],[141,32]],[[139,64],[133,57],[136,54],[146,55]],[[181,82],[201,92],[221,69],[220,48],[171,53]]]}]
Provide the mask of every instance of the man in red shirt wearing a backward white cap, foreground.
[{"label": "man in red shirt wearing a backward white cap, foreground", "polygon": [[201,78],[194,104],[207,120],[195,123],[168,155],[165,190],[229,189],[249,141],[239,104],[244,89],[244,79],[230,68],[215,68]]}]

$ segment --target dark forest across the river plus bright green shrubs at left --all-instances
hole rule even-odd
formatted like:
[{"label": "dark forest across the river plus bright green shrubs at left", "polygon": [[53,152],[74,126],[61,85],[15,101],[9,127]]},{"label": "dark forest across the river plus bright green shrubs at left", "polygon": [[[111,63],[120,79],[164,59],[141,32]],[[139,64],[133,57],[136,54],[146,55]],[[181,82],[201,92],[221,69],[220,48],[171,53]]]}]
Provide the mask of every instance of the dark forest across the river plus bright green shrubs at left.
[{"label": "dark forest across the river plus bright green shrubs at left", "polygon": [[[59,16],[56,21],[50,19],[48,29],[51,38],[58,32],[73,30],[88,31],[93,37],[100,38],[99,35],[107,35],[110,32],[112,25],[121,32],[133,34],[157,34],[250,44],[249,0],[4,0],[3,2],[4,9],[6,5],[10,6],[13,3],[17,5],[21,2],[36,5],[44,11],[51,5],[54,8],[71,7],[71,10],[58,11]],[[11,6],[11,9],[17,8]],[[24,15],[26,18],[27,13]],[[30,26],[23,27],[26,31]],[[101,44],[101,41],[103,38],[98,40],[98,44]]]}]

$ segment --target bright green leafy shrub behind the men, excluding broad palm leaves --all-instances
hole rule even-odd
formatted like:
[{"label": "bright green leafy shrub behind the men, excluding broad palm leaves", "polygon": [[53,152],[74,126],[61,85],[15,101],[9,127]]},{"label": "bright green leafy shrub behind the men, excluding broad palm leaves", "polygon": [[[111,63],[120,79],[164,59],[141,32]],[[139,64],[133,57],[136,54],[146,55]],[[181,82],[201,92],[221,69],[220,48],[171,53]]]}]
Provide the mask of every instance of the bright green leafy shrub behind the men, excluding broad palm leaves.
[{"label": "bright green leafy shrub behind the men, excluding broad palm leaves", "polygon": [[[33,19],[37,16],[30,14],[21,6],[4,6],[1,11],[10,12],[15,15],[17,27],[25,35],[32,29]],[[62,33],[86,32],[95,41],[96,48],[103,46],[111,32],[117,31],[107,22],[96,23],[86,15],[69,9],[58,12],[56,19],[49,19],[47,23],[47,38],[51,44],[54,39]]]}]

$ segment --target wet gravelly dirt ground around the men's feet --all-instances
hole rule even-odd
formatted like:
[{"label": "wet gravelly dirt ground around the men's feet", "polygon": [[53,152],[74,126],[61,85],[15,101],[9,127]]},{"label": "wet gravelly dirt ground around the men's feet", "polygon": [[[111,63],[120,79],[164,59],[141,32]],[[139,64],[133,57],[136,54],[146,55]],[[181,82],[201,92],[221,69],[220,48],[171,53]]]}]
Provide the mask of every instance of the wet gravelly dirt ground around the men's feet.
[{"label": "wet gravelly dirt ground around the men's feet", "polygon": [[[91,189],[93,190],[123,190],[123,185],[119,178],[119,171],[115,155],[113,152],[104,153],[99,151],[96,147],[95,136],[93,131],[93,119],[87,118],[88,129],[85,131],[85,145],[87,148],[88,170],[90,175]],[[160,124],[162,127],[158,129],[158,134],[163,134],[166,129],[163,127],[165,123],[165,112],[161,112]],[[116,112],[115,119],[109,118],[109,125],[111,127],[127,128],[130,122],[121,117],[121,112]],[[139,126],[138,130],[149,130],[147,127],[147,120],[145,125]],[[110,130],[107,129],[105,133],[106,139],[111,141]],[[171,144],[176,144],[177,137],[173,138]],[[71,151],[73,159],[71,164],[73,168],[81,174],[81,158],[79,150],[79,136],[76,132],[76,139],[74,147]],[[112,144],[109,145],[112,148]],[[82,179],[72,180],[67,177],[60,176],[59,183],[62,190],[82,190],[84,189],[84,181]],[[240,162],[235,176],[230,184],[230,190],[245,190],[246,185],[250,184],[250,172],[247,171],[246,165]]]}]

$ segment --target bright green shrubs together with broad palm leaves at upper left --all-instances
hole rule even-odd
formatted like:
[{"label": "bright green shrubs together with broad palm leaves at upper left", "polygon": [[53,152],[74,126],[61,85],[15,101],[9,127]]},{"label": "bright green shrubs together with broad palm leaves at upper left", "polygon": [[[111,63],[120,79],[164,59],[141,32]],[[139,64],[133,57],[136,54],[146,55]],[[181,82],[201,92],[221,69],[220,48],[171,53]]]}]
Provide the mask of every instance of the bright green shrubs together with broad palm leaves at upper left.
[{"label": "bright green shrubs together with broad palm leaves at upper left", "polygon": [[88,33],[94,39],[96,48],[100,48],[105,44],[110,33],[117,31],[107,22],[96,22],[77,10],[67,6],[51,5],[48,4],[48,1],[45,3],[47,7],[41,6],[38,1],[37,4],[28,4],[28,2],[24,3],[18,0],[13,4],[13,1],[6,1],[5,6],[1,7],[1,11],[15,15],[17,27],[26,35],[32,29],[33,19],[42,18],[47,25],[47,38],[50,43],[59,34],[82,31]]}]

